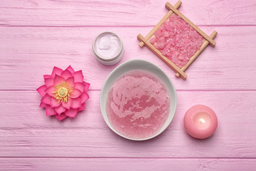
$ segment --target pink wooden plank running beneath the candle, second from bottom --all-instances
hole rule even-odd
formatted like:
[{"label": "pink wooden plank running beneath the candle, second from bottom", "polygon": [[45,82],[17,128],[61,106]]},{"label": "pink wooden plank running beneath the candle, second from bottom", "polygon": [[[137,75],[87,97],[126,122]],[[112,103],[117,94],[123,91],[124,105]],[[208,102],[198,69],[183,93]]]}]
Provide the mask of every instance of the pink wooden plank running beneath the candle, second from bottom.
[{"label": "pink wooden plank running beneath the candle, second from bottom", "polygon": [[[89,91],[85,110],[59,122],[38,108],[36,91],[0,91],[0,157],[256,157],[256,91],[178,91],[174,120],[145,142],[119,137],[100,113],[100,91]],[[218,128],[206,140],[191,138],[183,115],[196,104],[210,106]]]}]

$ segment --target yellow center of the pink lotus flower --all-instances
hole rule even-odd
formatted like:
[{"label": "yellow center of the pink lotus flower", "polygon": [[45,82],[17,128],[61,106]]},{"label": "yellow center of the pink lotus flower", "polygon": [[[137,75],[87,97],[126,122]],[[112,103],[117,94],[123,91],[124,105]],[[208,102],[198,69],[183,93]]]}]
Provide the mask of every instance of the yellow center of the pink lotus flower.
[{"label": "yellow center of the pink lotus flower", "polygon": [[54,86],[53,97],[58,100],[58,103],[67,102],[70,94],[73,94],[73,88],[69,83],[63,81]]}]

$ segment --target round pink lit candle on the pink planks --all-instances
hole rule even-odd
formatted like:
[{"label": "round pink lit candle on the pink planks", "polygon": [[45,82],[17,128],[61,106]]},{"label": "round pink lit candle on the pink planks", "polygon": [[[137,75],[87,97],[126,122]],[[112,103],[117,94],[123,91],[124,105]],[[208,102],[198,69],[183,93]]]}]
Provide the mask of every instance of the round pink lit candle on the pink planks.
[{"label": "round pink lit candle on the pink planks", "polygon": [[218,126],[216,114],[206,105],[194,105],[188,109],[183,121],[188,134],[198,139],[210,137]]}]

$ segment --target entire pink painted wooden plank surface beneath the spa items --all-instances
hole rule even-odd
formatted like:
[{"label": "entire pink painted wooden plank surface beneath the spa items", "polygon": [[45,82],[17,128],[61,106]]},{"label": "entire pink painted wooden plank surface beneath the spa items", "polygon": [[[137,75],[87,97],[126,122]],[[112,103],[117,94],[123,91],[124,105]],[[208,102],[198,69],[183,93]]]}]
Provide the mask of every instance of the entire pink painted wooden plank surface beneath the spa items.
[{"label": "entire pink painted wooden plank surface beneath the spa items", "polygon": [[[180,11],[203,31],[218,31],[215,48],[175,78],[137,34],[146,36],[166,0],[0,1],[0,170],[256,170],[256,1],[183,0]],[[175,0],[170,0],[175,4]],[[134,142],[115,135],[100,113],[102,83],[116,66],[102,66],[92,40],[114,31],[124,58],[156,63],[176,86],[178,106],[159,137]],[[59,122],[38,108],[36,88],[53,66],[82,69],[91,83],[86,109]],[[215,134],[191,138],[183,115],[192,105],[218,115]]]}]

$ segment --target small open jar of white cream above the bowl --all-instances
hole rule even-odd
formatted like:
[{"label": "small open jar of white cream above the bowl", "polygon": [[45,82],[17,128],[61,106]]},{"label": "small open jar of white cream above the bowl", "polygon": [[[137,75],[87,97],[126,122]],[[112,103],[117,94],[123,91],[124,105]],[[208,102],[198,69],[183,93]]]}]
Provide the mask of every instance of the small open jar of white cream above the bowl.
[{"label": "small open jar of white cream above the bowl", "polygon": [[117,34],[106,31],[95,37],[92,51],[97,61],[103,65],[112,66],[121,61],[124,56],[124,45]]}]

